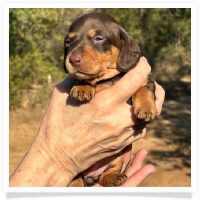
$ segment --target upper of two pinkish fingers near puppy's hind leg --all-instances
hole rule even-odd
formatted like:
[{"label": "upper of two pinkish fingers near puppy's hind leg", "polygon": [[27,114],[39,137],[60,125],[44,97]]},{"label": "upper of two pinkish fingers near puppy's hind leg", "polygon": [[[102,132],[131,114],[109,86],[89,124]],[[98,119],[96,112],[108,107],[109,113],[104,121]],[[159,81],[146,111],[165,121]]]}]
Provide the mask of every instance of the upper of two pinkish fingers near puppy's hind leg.
[{"label": "upper of two pinkish fingers near puppy's hind leg", "polygon": [[125,174],[129,177],[137,170],[142,167],[143,161],[147,155],[148,151],[146,149],[140,149],[135,157],[133,158],[129,168],[126,170]]}]

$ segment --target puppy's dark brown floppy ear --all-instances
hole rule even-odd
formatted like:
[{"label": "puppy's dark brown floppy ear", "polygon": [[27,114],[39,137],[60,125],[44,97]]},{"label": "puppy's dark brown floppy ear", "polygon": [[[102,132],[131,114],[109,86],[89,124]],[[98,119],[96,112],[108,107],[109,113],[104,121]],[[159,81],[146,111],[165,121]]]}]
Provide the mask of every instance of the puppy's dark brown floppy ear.
[{"label": "puppy's dark brown floppy ear", "polygon": [[117,60],[117,69],[122,72],[128,72],[139,61],[141,51],[137,43],[122,27],[119,27],[119,35],[121,50]]}]

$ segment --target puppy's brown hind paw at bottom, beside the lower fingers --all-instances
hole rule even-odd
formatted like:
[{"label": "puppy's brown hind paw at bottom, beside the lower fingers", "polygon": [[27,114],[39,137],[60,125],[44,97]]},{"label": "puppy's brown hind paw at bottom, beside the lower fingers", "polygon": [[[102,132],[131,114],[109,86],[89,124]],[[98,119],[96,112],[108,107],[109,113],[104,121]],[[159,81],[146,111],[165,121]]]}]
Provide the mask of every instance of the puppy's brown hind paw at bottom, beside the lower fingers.
[{"label": "puppy's brown hind paw at bottom, beside the lower fingers", "polygon": [[111,172],[109,174],[102,174],[99,184],[103,187],[117,187],[124,183],[127,176],[123,173]]}]

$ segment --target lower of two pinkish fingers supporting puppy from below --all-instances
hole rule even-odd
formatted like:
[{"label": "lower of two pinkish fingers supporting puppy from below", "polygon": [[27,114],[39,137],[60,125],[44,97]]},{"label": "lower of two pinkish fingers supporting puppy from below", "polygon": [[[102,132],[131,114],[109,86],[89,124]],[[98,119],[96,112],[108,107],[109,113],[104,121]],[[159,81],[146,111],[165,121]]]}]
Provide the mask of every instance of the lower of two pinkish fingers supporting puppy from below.
[{"label": "lower of two pinkish fingers supporting puppy from below", "polygon": [[145,165],[130,177],[128,177],[128,179],[120,187],[136,187],[155,171],[156,169],[153,165]]}]

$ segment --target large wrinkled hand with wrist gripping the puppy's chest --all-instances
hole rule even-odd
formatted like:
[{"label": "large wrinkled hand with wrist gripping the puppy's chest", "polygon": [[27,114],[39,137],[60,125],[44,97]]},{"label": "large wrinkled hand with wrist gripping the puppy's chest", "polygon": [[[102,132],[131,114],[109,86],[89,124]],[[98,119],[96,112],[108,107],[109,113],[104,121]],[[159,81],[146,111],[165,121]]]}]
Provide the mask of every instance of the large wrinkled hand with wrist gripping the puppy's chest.
[{"label": "large wrinkled hand with wrist gripping the puppy's chest", "polygon": [[[144,129],[132,128],[137,119],[127,100],[140,88],[150,70],[146,59],[141,58],[115,85],[97,93],[86,104],[70,98],[73,85],[70,77],[57,85],[40,130],[12,176],[11,185],[66,186],[97,161],[144,137]],[[156,97],[160,113],[164,90],[158,84]],[[41,176],[35,177],[38,173]]]}]

